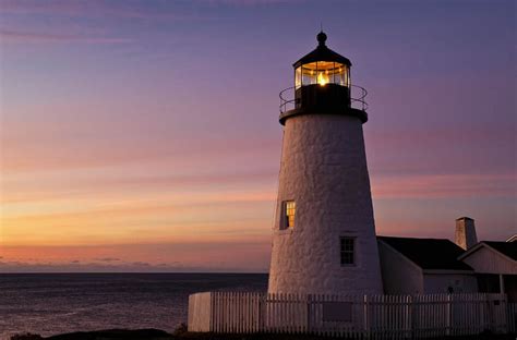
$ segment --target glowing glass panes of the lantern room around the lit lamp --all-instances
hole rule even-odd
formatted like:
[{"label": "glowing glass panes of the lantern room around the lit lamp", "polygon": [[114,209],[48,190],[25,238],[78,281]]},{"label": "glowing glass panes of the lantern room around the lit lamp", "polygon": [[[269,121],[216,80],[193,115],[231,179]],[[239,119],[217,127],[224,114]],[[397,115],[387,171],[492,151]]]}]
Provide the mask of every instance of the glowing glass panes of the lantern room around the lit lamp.
[{"label": "glowing glass panes of the lantern room around the lit lamp", "polygon": [[315,61],[294,70],[294,86],[336,84],[350,87],[350,71],[347,65],[333,61]]}]

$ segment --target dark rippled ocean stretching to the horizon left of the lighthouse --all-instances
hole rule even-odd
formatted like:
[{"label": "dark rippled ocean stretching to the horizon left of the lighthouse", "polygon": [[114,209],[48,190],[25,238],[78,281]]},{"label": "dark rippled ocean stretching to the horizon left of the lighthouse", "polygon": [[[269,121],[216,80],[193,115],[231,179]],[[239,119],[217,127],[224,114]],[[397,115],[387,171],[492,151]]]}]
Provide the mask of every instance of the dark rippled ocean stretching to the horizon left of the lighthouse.
[{"label": "dark rippled ocean stretching to the horizon left of the lighthouse", "polygon": [[172,331],[189,294],[266,291],[267,274],[0,274],[0,339],[109,328]]}]

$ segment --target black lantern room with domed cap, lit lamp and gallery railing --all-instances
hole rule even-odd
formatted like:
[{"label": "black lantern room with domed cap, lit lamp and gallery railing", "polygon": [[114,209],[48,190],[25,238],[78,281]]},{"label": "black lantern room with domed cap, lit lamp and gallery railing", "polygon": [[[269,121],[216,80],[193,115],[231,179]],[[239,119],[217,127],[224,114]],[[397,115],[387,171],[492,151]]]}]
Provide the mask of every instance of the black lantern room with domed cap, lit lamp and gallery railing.
[{"label": "black lantern room with domed cap, lit lamp and gallery railing", "polygon": [[[327,35],[320,32],[316,36],[317,47],[294,62],[294,99],[284,99],[280,93],[280,123],[291,116],[306,113],[335,113],[358,117],[363,123],[368,120],[365,112],[365,90],[361,96],[351,98],[350,68],[348,58],[329,49],[325,41]],[[289,89],[291,89],[290,87]],[[362,104],[360,109],[351,107],[352,102]],[[288,106],[293,106],[288,110]]]}]

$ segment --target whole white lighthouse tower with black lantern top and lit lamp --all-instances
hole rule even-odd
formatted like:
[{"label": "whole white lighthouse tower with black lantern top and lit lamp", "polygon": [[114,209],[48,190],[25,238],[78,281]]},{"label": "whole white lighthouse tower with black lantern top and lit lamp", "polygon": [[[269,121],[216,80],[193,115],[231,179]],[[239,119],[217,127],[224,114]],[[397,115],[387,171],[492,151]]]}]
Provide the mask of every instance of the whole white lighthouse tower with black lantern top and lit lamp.
[{"label": "whole white lighthouse tower with black lantern top and lit lamp", "polygon": [[362,131],[365,92],[351,98],[350,60],[326,38],[320,33],[316,49],[293,64],[294,99],[280,94],[269,293],[383,290]]}]

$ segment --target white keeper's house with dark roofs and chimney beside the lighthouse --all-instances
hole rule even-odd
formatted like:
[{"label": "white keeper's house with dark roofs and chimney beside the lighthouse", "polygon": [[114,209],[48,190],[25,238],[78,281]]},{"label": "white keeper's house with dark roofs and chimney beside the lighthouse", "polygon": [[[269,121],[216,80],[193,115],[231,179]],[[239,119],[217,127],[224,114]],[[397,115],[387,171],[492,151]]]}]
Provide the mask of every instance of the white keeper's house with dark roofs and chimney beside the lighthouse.
[{"label": "white keeper's house with dark roofs and chimney beside the lighthouse", "polygon": [[377,236],[384,293],[506,293],[517,302],[515,241],[478,243],[468,217],[456,220],[456,243]]}]

